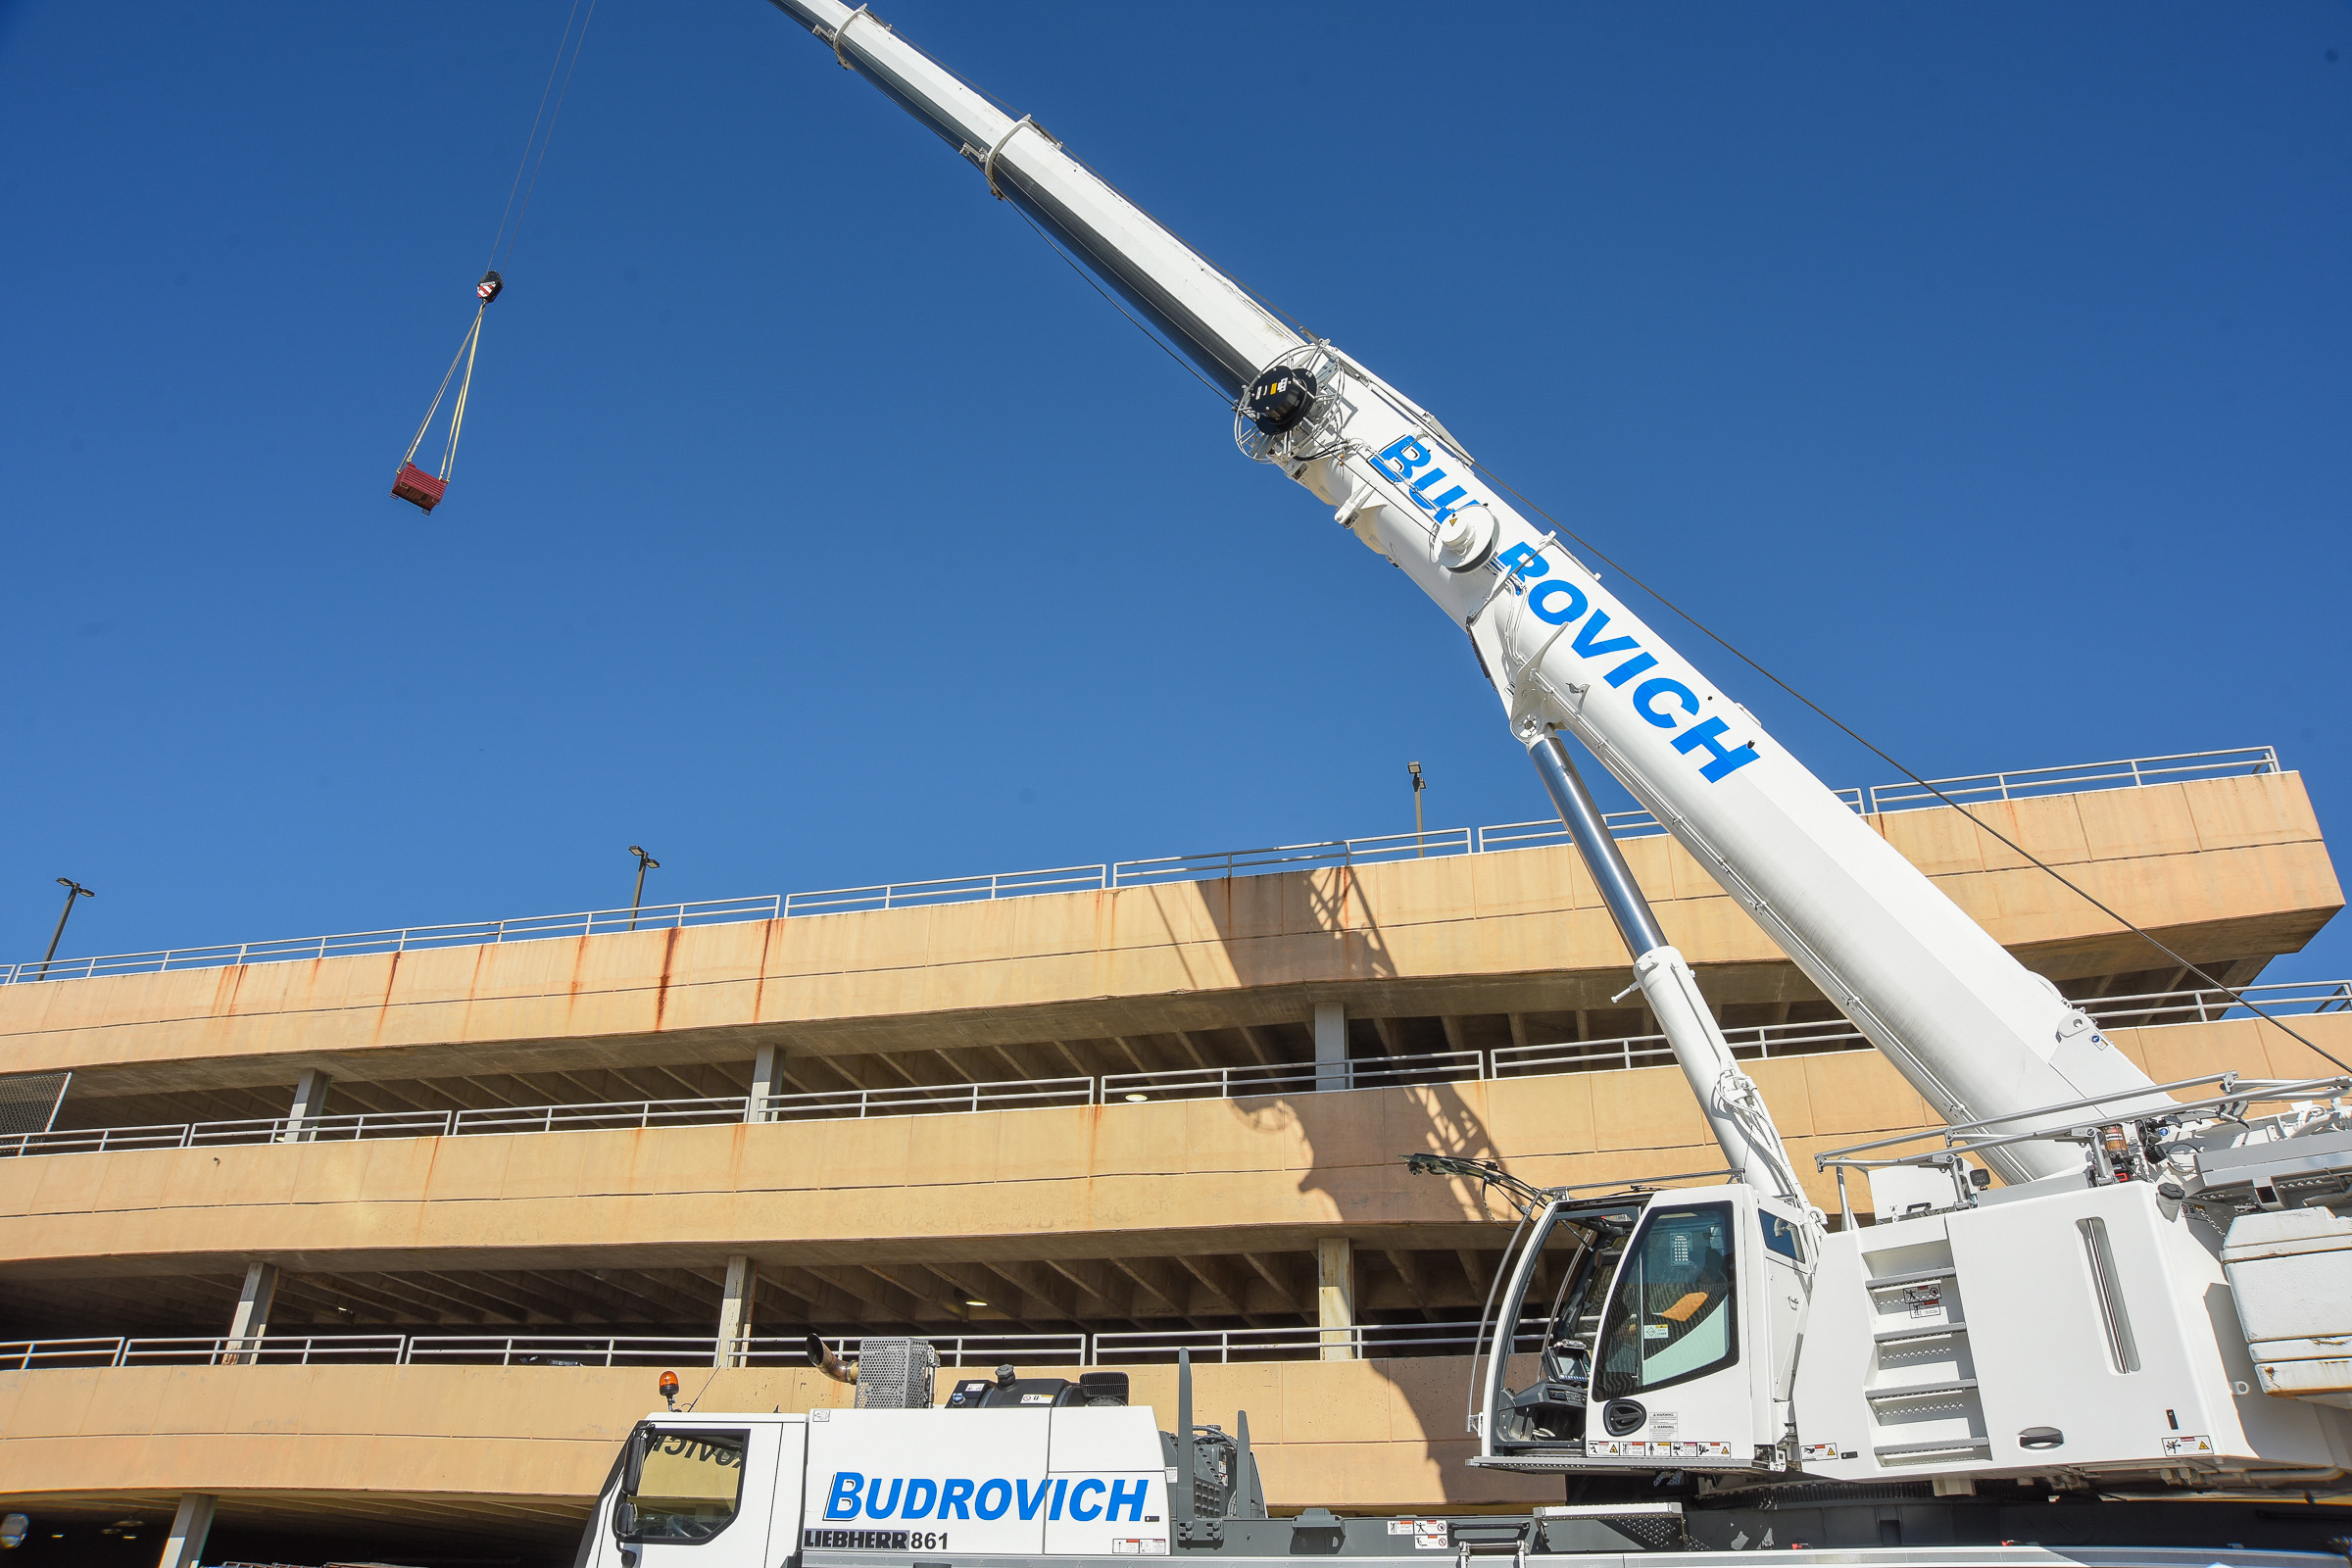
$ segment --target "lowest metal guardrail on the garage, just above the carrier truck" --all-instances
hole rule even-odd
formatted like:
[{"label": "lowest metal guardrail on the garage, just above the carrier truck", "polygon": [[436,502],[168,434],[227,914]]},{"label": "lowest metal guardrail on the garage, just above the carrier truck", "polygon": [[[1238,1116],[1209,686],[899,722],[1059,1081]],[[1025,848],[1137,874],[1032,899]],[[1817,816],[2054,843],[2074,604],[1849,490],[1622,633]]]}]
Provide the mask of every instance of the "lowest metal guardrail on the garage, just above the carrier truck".
[{"label": "lowest metal guardrail on the garage, just above the carrier truck", "polygon": [[[1449,1324],[1357,1324],[1355,1328],[1171,1328],[1120,1333],[967,1333],[927,1335],[943,1368],[1117,1366],[1174,1361],[1305,1359],[1327,1347],[1359,1356],[1468,1354],[1475,1319]],[[1519,1349],[1538,1349],[1541,1333]],[[746,1335],[731,1340],[729,1366],[807,1366],[807,1340]],[[854,1354],[854,1338],[828,1338]],[[0,1342],[0,1373],[73,1366],[717,1366],[717,1335],[499,1335],[499,1333],[327,1333],[261,1338],[122,1338]]]}]

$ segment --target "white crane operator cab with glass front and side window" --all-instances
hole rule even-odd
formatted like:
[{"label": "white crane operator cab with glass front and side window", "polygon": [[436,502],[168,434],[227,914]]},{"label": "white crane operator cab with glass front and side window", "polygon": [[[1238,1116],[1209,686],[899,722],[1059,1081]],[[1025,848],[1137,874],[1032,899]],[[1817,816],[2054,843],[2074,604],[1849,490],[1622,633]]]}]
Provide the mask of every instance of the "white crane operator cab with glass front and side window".
[{"label": "white crane operator cab with glass front and side window", "polygon": [[1529,1197],[1472,1363],[1470,1462],[1783,1469],[1806,1218],[1745,1185]]}]

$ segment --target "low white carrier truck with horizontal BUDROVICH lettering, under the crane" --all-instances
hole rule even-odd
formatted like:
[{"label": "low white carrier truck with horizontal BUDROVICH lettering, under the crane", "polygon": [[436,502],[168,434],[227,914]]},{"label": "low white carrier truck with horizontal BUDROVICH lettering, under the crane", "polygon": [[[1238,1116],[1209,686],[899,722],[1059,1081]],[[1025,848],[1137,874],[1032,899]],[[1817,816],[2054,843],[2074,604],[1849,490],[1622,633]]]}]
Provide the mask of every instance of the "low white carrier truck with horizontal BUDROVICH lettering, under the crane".
[{"label": "low white carrier truck with horizontal BUDROVICH lettering, under the crane", "polygon": [[[656,1448],[637,1472],[642,1512],[628,1528],[626,1460]],[[1176,1544],[1167,1500],[1174,1474],[1148,1408],[1051,1410],[811,1410],[675,1413],[640,1422],[581,1535],[576,1568],[1122,1568],[1136,1556],[1197,1556],[1221,1568],[1298,1568],[1298,1559],[1357,1566],[1395,1559],[1468,1563],[1508,1556],[1651,1568],[1729,1568],[1771,1552],[1816,1568],[2211,1568],[2216,1552],[2039,1544],[2067,1537],[2039,1495],[1978,1540],[1936,1507],[1750,1507],[1686,1516],[1677,1502],[1548,1507],[1534,1514],[1338,1519],[1225,1519],[1190,1526]],[[666,1469],[661,1462],[666,1462]],[[854,1481],[851,1481],[854,1479]],[[880,1481],[880,1502],[875,1483]],[[663,1507],[694,1516],[666,1535]],[[1152,1519],[1152,1514],[1160,1514]],[[2324,1512],[2324,1509],[2321,1509]],[[1056,1516],[1058,1514],[1058,1516]],[[1112,1516],[1117,1514],[1117,1516]],[[2037,1516],[2039,1514],[2039,1516]],[[2016,1519],[2020,1523],[2009,1523]],[[647,1528],[652,1526],[652,1528]],[[1891,1526],[1891,1528],[1889,1528]],[[1905,1528],[1910,1535],[1905,1537]],[[2230,1526],[2246,1533],[2241,1526]],[[1978,1530],[1978,1537],[1983,1530]],[[1907,1540],[1907,1544],[1905,1544]],[[1171,1544],[1176,1547],[1171,1552]],[[1856,1547],[1872,1547],[1856,1554]],[[2232,1568],[2328,1568],[2340,1556],[2293,1549],[2227,1552]]]}]

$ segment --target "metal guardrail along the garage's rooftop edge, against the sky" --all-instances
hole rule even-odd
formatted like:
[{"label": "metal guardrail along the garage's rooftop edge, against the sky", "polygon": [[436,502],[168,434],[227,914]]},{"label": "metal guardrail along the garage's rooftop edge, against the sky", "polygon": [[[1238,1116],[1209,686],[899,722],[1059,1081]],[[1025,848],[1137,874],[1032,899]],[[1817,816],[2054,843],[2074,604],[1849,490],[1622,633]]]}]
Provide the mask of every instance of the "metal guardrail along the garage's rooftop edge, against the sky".
[{"label": "metal guardrail along the garage's rooftop edge, against the sky", "polygon": [[[2027,799],[2084,790],[2129,790],[2192,778],[2234,778],[2277,773],[2279,752],[2251,745],[2225,752],[2180,752],[2173,757],[2126,757],[2018,773],[1969,773],[1929,780],[1957,802]],[[1915,811],[1943,802],[1917,783],[1837,790],[1856,811]],[[1665,832],[1649,811],[1613,811],[1604,818],[1611,837],[1642,839]],[[1430,832],[1388,832],[1364,839],[1324,839],[1319,844],[1275,844],[1268,849],[1223,849],[1197,856],[1160,856],[1148,860],[1112,860],[1105,865],[1061,865],[1030,872],[993,872],[981,877],[934,877],[929,882],[887,882],[861,889],[823,889],[814,893],[769,893],[764,898],[708,898],[663,903],[642,910],[576,910],[569,914],[524,914],[517,919],[477,919],[449,926],[402,926],[400,931],[343,931],[334,936],[296,936],[268,943],[221,943],[212,947],[167,947],[162,952],[113,952],[82,959],[0,964],[0,985],[33,980],[87,980],[94,976],[165,973],[174,969],[221,969],[228,964],[275,964],[292,959],[329,959],[369,952],[416,952],[433,947],[477,947],[527,943],[557,936],[600,936],[614,931],[649,931],[673,926],[717,926],[750,919],[802,914],[847,914],[856,910],[908,910],[943,903],[981,903],[993,898],[1028,898],[1035,893],[1089,893],[1167,882],[1209,882],[1218,877],[1256,877],[1268,872],[1329,870],[1338,865],[1378,865],[1435,856],[1501,853],[1564,844],[1569,830],[1555,818],[1534,823],[1496,823],[1491,827],[1442,827]]]}]

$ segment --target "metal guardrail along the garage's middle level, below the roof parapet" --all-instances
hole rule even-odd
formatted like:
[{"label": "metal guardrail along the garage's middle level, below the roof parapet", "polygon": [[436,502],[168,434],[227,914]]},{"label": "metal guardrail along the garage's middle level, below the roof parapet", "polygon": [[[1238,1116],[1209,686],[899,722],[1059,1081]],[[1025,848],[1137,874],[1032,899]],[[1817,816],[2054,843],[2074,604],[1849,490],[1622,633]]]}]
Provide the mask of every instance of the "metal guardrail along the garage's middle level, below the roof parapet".
[{"label": "metal guardrail along the garage's middle level, below the roof parapet", "polygon": [[[2251,997],[2267,1013],[2347,1013],[2352,980],[2303,980],[2220,990],[2091,997],[2082,1009],[2107,1025],[2164,1027],[2176,1023],[2249,1020],[2237,999]],[[1724,1030],[1738,1060],[1867,1051],[1870,1041],[1844,1018]],[[901,1088],[828,1088],[818,1093],[722,1095],[703,1100],[616,1100],[586,1105],[487,1105],[480,1110],[395,1110],[350,1117],[275,1117],[249,1121],[191,1121],[179,1126],[92,1126],[0,1135],[0,1159],[16,1154],[108,1154],[118,1150],[195,1150],[254,1143],[353,1143],[360,1138],[463,1138],[475,1133],[562,1133],[652,1126],[727,1126],[736,1121],[833,1121],[870,1117],[943,1117],[1042,1105],[1134,1105],[1150,1100],[1247,1100],[1251,1095],[1395,1088],[1404,1084],[1468,1084],[1564,1072],[1625,1072],[1675,1060],[1665,1034],[1562,1039],[1552,1044],[1489,1046],[1482,1051],[1423,1051],[1357,1056],[1343,1063],[1265,1063],[1242,1067],[1169,1067],[1108,1072],[1098,1079],[997,1079],[983,1084],[908,1084]],[[5,1352],[0,1352],[5,1361]]]}]

